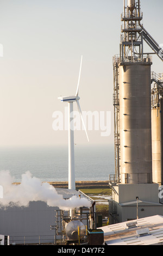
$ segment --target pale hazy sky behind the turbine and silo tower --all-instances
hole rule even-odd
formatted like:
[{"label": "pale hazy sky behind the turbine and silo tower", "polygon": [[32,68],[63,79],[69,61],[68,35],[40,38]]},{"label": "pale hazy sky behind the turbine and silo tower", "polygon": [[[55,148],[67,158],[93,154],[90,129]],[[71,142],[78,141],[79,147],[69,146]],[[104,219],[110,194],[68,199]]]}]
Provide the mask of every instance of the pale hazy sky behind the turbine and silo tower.
[{"label": "pale hazy sky behind the turbine and silo tower", "polygon": [[[141,1],[143,25],[159,44],[162,9],[161,0]],[[111,111],[111,135],[88,131],[89,144],[114,143],[112,56],[119,53],[122,12],[123,0],[0,0],[1,146],[67,144],[67,131],[52,129],[52,114],[65,115],[58,96],[76,93],[81,55],[82,111]],[[163,72],[158,57],[153,63]],[[74,137],[87,144],[84,131]]]}]

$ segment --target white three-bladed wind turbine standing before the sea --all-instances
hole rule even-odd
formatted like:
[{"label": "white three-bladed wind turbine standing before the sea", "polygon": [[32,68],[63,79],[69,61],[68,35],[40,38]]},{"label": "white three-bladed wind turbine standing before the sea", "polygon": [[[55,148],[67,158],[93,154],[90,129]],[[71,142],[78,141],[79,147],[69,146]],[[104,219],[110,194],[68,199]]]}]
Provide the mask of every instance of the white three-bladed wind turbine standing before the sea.
[{"label": "white three-bladed wind turbine standing before the sea", "polygon": [[[75,96],[65,96],[65,97],[59,97],[58,99],[61,100],[61,102],[68,102],[68,189],[73,190],[76,189],[76,181],[75,181],[75,168],[74,168],[74,125],[73,125],[73,102],[77,102],[78,111],[80,113],[80,117],[82,119],[82,123],[86,132],[86,127],[84,124],[82,111],[79,105],[79,99],[78,96],[79,93],[79,83],[80,83],[80,75],[82,70],[82,60],[83,56],[81,58],[80,62],[80,70],[79,70],[79,78],[78,78],[78,84],[77,84],[77,92]],[[89,141],[89,138],[87,136],[87,140]]]}]

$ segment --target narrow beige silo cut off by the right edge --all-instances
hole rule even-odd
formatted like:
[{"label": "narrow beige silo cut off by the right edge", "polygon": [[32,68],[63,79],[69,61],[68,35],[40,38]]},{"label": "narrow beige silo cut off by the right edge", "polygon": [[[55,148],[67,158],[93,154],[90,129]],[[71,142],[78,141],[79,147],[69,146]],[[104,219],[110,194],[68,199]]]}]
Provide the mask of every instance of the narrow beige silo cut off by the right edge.
[{"label": "narrow beige silo cut off by the right edge", "polygon": [[153,182],[161,185],[160,108],[152,109],[152,175]]}]

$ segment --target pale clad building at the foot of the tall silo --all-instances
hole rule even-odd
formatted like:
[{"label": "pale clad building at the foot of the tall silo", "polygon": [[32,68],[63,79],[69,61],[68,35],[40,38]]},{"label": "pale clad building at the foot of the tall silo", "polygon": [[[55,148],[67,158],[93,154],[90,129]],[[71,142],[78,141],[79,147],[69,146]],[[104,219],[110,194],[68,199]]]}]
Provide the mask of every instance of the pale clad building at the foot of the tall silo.
[{"label": "pale clad building at the foot of the tall silo", "polygon": [[[132,205],[124,204],[136,202],[136,197],[139,197],[141,202],[146,202],[145,205],[140,205],[139,203],[140,218],[163,215],[163,204],[159,204],[159,184],[118,184],[114,186],[113,192],[113,208],[116,210],[117,222],[136,219],[136,204],[134,206],[132,203]],[[144,210],[141,211],[141,209]],[[115,223],[111,217],[110,222]]]}]

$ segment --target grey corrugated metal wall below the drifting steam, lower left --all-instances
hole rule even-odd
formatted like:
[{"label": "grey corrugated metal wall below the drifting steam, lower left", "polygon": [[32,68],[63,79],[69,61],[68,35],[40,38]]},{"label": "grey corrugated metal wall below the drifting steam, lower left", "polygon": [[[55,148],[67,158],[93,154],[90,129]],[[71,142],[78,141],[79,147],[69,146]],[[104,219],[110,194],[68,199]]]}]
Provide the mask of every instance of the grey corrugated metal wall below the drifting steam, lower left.
[{"label": "grey corrugated metal wall below the drifting steam, lower left", "polygon": [[23,243],[24,239],[39,243],[39,238],[41,242],[54,242],[54,230],[50,230],[50,225],[56,224],[55,209],[58,208],[44,202],[30,202],[27,208],[0,209],[0,234],[9,235],[10,243]]}]

